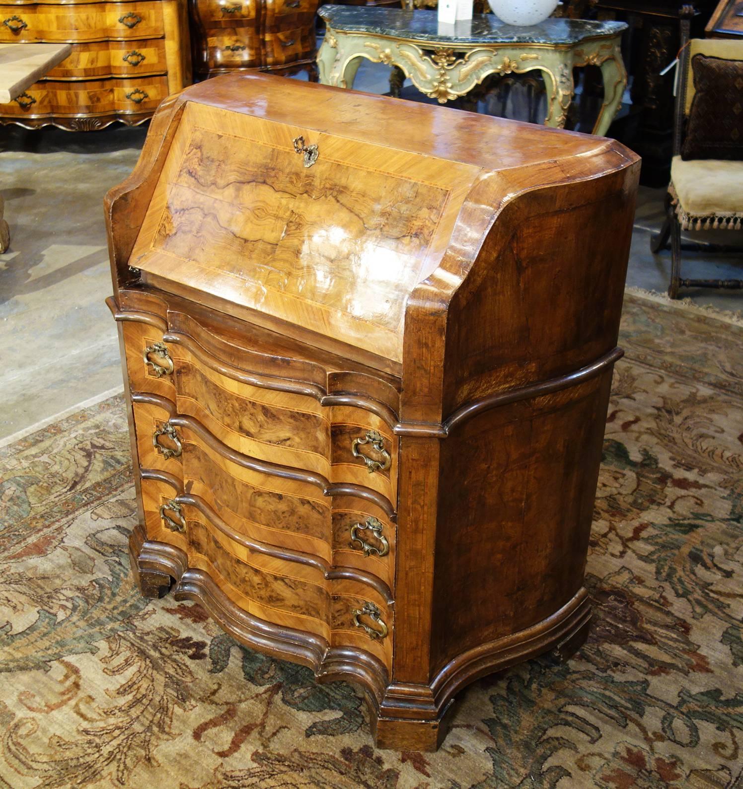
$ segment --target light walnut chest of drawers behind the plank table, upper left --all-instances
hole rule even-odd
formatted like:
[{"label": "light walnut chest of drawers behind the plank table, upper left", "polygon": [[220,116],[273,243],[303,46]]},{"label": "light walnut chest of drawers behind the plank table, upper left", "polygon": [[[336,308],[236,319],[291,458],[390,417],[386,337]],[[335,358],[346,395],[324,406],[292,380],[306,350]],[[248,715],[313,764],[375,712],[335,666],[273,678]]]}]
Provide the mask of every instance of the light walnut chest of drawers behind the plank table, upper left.
[{"label": "light walnut chest of drawers behind the plank table, upper left", "polygon": [[0,104],[0,124],[137,125],[191,82],[186,0],[0,0],[0,43],[43,42],[72,52]]}]

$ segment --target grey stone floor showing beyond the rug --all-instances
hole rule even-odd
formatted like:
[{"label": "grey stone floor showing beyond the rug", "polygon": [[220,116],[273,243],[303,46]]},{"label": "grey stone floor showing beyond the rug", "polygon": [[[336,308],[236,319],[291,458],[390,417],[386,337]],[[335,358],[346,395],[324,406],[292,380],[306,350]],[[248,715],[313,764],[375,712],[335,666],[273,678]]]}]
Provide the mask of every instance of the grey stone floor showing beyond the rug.
[{"label": "grey stone floor showing beyond the rug", "polygon": [[[355,87],[385,92],[387,75],[365,63]],[[0,441],[121,387],[114,321],[103,303],[111,293],[103,195],[131,172],[145,133],[0,127],[0,194],[11,234],[0,256]],[[640,190],[628,275],[629,285],[660,292],[670,252],[653,256],[648,243],[662,222],[663,193]],[[722,241],[733,237],[726,231]],[[741,277],[743,248],[739,256],[685,253],[684,274]],[[741,292],[684,295],[743,308]]]}]

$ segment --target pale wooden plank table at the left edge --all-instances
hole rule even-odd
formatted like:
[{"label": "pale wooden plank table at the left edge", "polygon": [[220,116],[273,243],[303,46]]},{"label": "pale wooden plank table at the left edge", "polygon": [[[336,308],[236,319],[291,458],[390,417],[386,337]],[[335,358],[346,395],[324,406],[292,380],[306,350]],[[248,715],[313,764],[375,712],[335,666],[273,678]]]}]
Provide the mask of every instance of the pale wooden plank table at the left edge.
[{"label": "pale wooden plank table at the left edge", "polygon": [[[0,44],[0,104],[22,96],[26,88],[61,63],[70,52],[69,44]],[[0,253],[5,252],[10,243],[8,222],[2,215],[0,196]]]}]

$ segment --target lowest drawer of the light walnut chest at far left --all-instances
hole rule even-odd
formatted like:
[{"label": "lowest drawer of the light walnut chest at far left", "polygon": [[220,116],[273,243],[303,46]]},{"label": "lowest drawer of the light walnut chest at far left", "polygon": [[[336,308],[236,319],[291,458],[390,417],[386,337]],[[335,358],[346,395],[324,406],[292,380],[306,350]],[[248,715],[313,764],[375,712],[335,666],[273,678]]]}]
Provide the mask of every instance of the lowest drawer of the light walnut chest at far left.
[{"label": "lowest drawer of the light walnut chest at far left", "polygon": [[47,80],[36,82],[9,104],[0,104],[0,114],[78,115],[140,113],[154,111],[167,96],[167,77],[129,80]]}]

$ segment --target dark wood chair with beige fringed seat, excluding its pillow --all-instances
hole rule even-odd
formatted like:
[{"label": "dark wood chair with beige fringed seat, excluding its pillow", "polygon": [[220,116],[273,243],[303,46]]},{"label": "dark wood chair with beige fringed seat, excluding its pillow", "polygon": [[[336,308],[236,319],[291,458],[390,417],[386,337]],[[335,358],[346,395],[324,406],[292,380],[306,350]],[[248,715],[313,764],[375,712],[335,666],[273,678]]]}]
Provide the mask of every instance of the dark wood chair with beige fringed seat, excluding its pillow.
[{"label": "dark wood chair with beige fringed seat, excluding its pillow", "polygon": [[[685,20],[681,24],[682,44],[688,43],[688,46],[685,46],[681,56],[674,159],[666,196],[667,218],[660,233],[651,239],[651,250],[655,253],[666,247],[670,237],[672,265],[668,295],[671,298],[678,297],[680,287],[743,287],[743,280],[740,279],[681,279],[681,230],[743,230],[743,161],[681,159],[685,124],[694,98],[692,58],[696,54],[704,54],[712,58],[743,61],[743,41],[689,40],[689,21]],[[741,108],[720,107],[720,111],[741,111]]]}]

